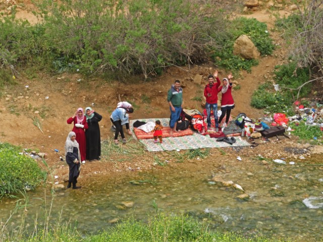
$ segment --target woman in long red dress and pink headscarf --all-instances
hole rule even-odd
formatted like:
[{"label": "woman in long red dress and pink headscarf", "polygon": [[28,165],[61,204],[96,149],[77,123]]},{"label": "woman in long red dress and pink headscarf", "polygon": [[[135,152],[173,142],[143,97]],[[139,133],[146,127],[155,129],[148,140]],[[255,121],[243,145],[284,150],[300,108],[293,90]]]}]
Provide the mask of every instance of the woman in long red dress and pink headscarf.
[{"label": "woman in long red dress and pink headscarf", "polygon": [[85,130],[88,129],[86,117],[84,116],[83,108],[78,108],[74,116],[67,119],[67,123],[70,125],[74,122],[73,132],[76,134],[76,141],[79,143],[80,155],[82,163],[85,163],[86,159],[86,137]]}]

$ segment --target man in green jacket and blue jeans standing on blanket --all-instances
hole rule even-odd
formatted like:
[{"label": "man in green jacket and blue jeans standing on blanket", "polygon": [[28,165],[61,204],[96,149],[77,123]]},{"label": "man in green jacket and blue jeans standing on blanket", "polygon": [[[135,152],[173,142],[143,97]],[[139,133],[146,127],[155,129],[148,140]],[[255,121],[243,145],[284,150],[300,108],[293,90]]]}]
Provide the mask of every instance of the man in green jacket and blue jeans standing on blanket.
[{"label": "man in green jacket and blue jeans standing on blanket", "polygon": [[167,101],[170,104],[171,109],[170,135],[173,136],[173,132],[177,132],[176,125],[183,106],[183,89],[181,88],[181,82],[179,80],[176,80],[174,85],[172,85],[171,89],[168,91]]}]

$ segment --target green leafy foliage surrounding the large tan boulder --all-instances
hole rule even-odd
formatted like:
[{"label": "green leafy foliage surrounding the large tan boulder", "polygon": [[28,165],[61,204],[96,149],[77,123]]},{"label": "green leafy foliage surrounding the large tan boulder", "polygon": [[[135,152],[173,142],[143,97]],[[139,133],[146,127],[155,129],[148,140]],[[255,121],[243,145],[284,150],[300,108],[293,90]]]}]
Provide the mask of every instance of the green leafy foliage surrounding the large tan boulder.
[{"label": "green leafy foliage surrounding the large tan boulder", "polygon": [[248,35],[254,45],[258,48],[261,55],[272,54],[274,44],[272,38],[266,33],[266,24],[249,18],[236,18],[228,21],[225,35],[214,36],[217,43],[222,47],[220,51],[214,50],[212,57],[222,67],[233,70],[251,71],[251,67],[258,65],[254,59],[247,60],[233,54],[233,44],[235,40],[242,34]]}]

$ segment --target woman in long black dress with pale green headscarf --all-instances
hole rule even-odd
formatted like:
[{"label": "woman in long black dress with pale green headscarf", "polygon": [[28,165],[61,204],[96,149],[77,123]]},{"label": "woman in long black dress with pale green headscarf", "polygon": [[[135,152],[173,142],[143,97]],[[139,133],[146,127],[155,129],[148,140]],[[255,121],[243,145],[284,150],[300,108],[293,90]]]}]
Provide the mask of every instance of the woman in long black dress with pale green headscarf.
[{"label": "woman in long black dress with pale green headscarf", "polygon": [[92,110],[91,107],[85,108],[86,122],[88,129],[85,131],[86,136],[86,159],[90,162],[100,160],[101,156],[101,139],[99,123],[102,116]]}]

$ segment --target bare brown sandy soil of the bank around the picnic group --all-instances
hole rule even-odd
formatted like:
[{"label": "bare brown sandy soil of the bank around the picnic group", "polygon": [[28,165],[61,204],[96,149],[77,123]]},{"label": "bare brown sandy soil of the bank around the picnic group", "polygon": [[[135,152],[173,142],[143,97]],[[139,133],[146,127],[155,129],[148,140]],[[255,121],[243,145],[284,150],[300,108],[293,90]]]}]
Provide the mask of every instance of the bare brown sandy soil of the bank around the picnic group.
[{"label": "bare brown sandy soil of the bank around the picnic group", "polygon": [[[25,11],[25,10],[23,10]],[[36,21],[34,17],[29,16],[29,12],[19,12],[19,17]],[[283,13],[284,14],[284,13]],[[253,17],[259,21],[268,24],[268,30],[271,29],[273,19],[266,11],[256,11],[246,17]],[[261,110],[250,106],[250,98],[253,91],[259,83],[271,80],[273,69],[281,64],[285,57],[285,48],[283,41],[271,33],[277,48],[271,56],[262,57],[259,65],[252,68],[251,73],[242,72],[241,77],[235,78],[241,88],[233,91],[236,108],[233,115],[240,112],[246,113],[249,117],[257,118],[263,115]],[[103,116],[100,122],[101,140],[107,137],[113,137],[110,131],[110,114],[118,103],[118,96],[122,100],[127,100],[135,104],[134,119],[147,117],[169,117],[170,111],[166,101],[167,91],[174,80],[179,79],[184,84],[184,104],[185,107],[202,110],[200,102],[192,100],[194,97],[202,96],[207,76],[216,70],[212,64],[202,66],[191,66],[181,68],[169,68],[160,77],[153,78],[149,82],[137,80],[126,80],[124,83],[111,82],[101,78],[88,79],[80,74],[62,74],[49,76],[43,73],[36,73],[35,78],[28,79],[21,75],[17,77],[17,85],[7,88],[0,99],[0,141],[19,145],[22,148],[39,150],[46,153],[46,162],[53,168],[53,173],[60,177],[66,177],[68,167],[59,160],[59,154],[53,151],[60,150],[64,153],[64,144],[66,136],[72,125],[68,125],[66,120],[71,117],[78,107],[85,108],[92,106],[93,109]],[[224,78],[228,73],[219,70],[219,77]],[[196,85],[193,78],[196,74],[203,76],[204,83]],[[134,77],[140,79],[141,77]],[[78,81],[81,79],[80,81]],[[136,84],[134,84],[136,82]],[[28,86],[28,87],[27,87]],[[147,98],[150,103],[147,103]],[[38,111],[38,114],[35,114]],[[42,131],[33,125],[33,119],[37,117],[42,125]],[[127,138],[131,138],[128,136]],[[136,141],[132,140],[130,143]],[[260,141],[257,143],[261,143]],[[287,139],[280,141],[273,140],[269,144],[259,145],[254,149],[245,148],[233,150],[228,148],[226,153],[233,157],[237,155],[252,156],[261,154],[265,157],[271,155],[293,156],[286,152],[284,147],[303,146]],[[316,152],[321,150],[316,149]],[[141,167],[140,170],[156,169],[151,159],[152,154],[146,154],[136,157],[134,160],[124,161],[116,164],[111,160],[116,156],[104,157],[101,161],[87,162],[82,170],[81,179],[91,178],[93,173],[99,172],[109,176],[118,175],[120,171],[129,171],[129,166]],[[221,152],[217,149],[211,150],[211,156],[218,156]],[[171,163],[171,166],[185,166],[183,163]],[[158,166],[160,169],[161,167]],[[157,167],[157,169],[158,169]],[[139,171],[140,171],[139,170]],[[81,182],[81,180],[80,180]]]}]

